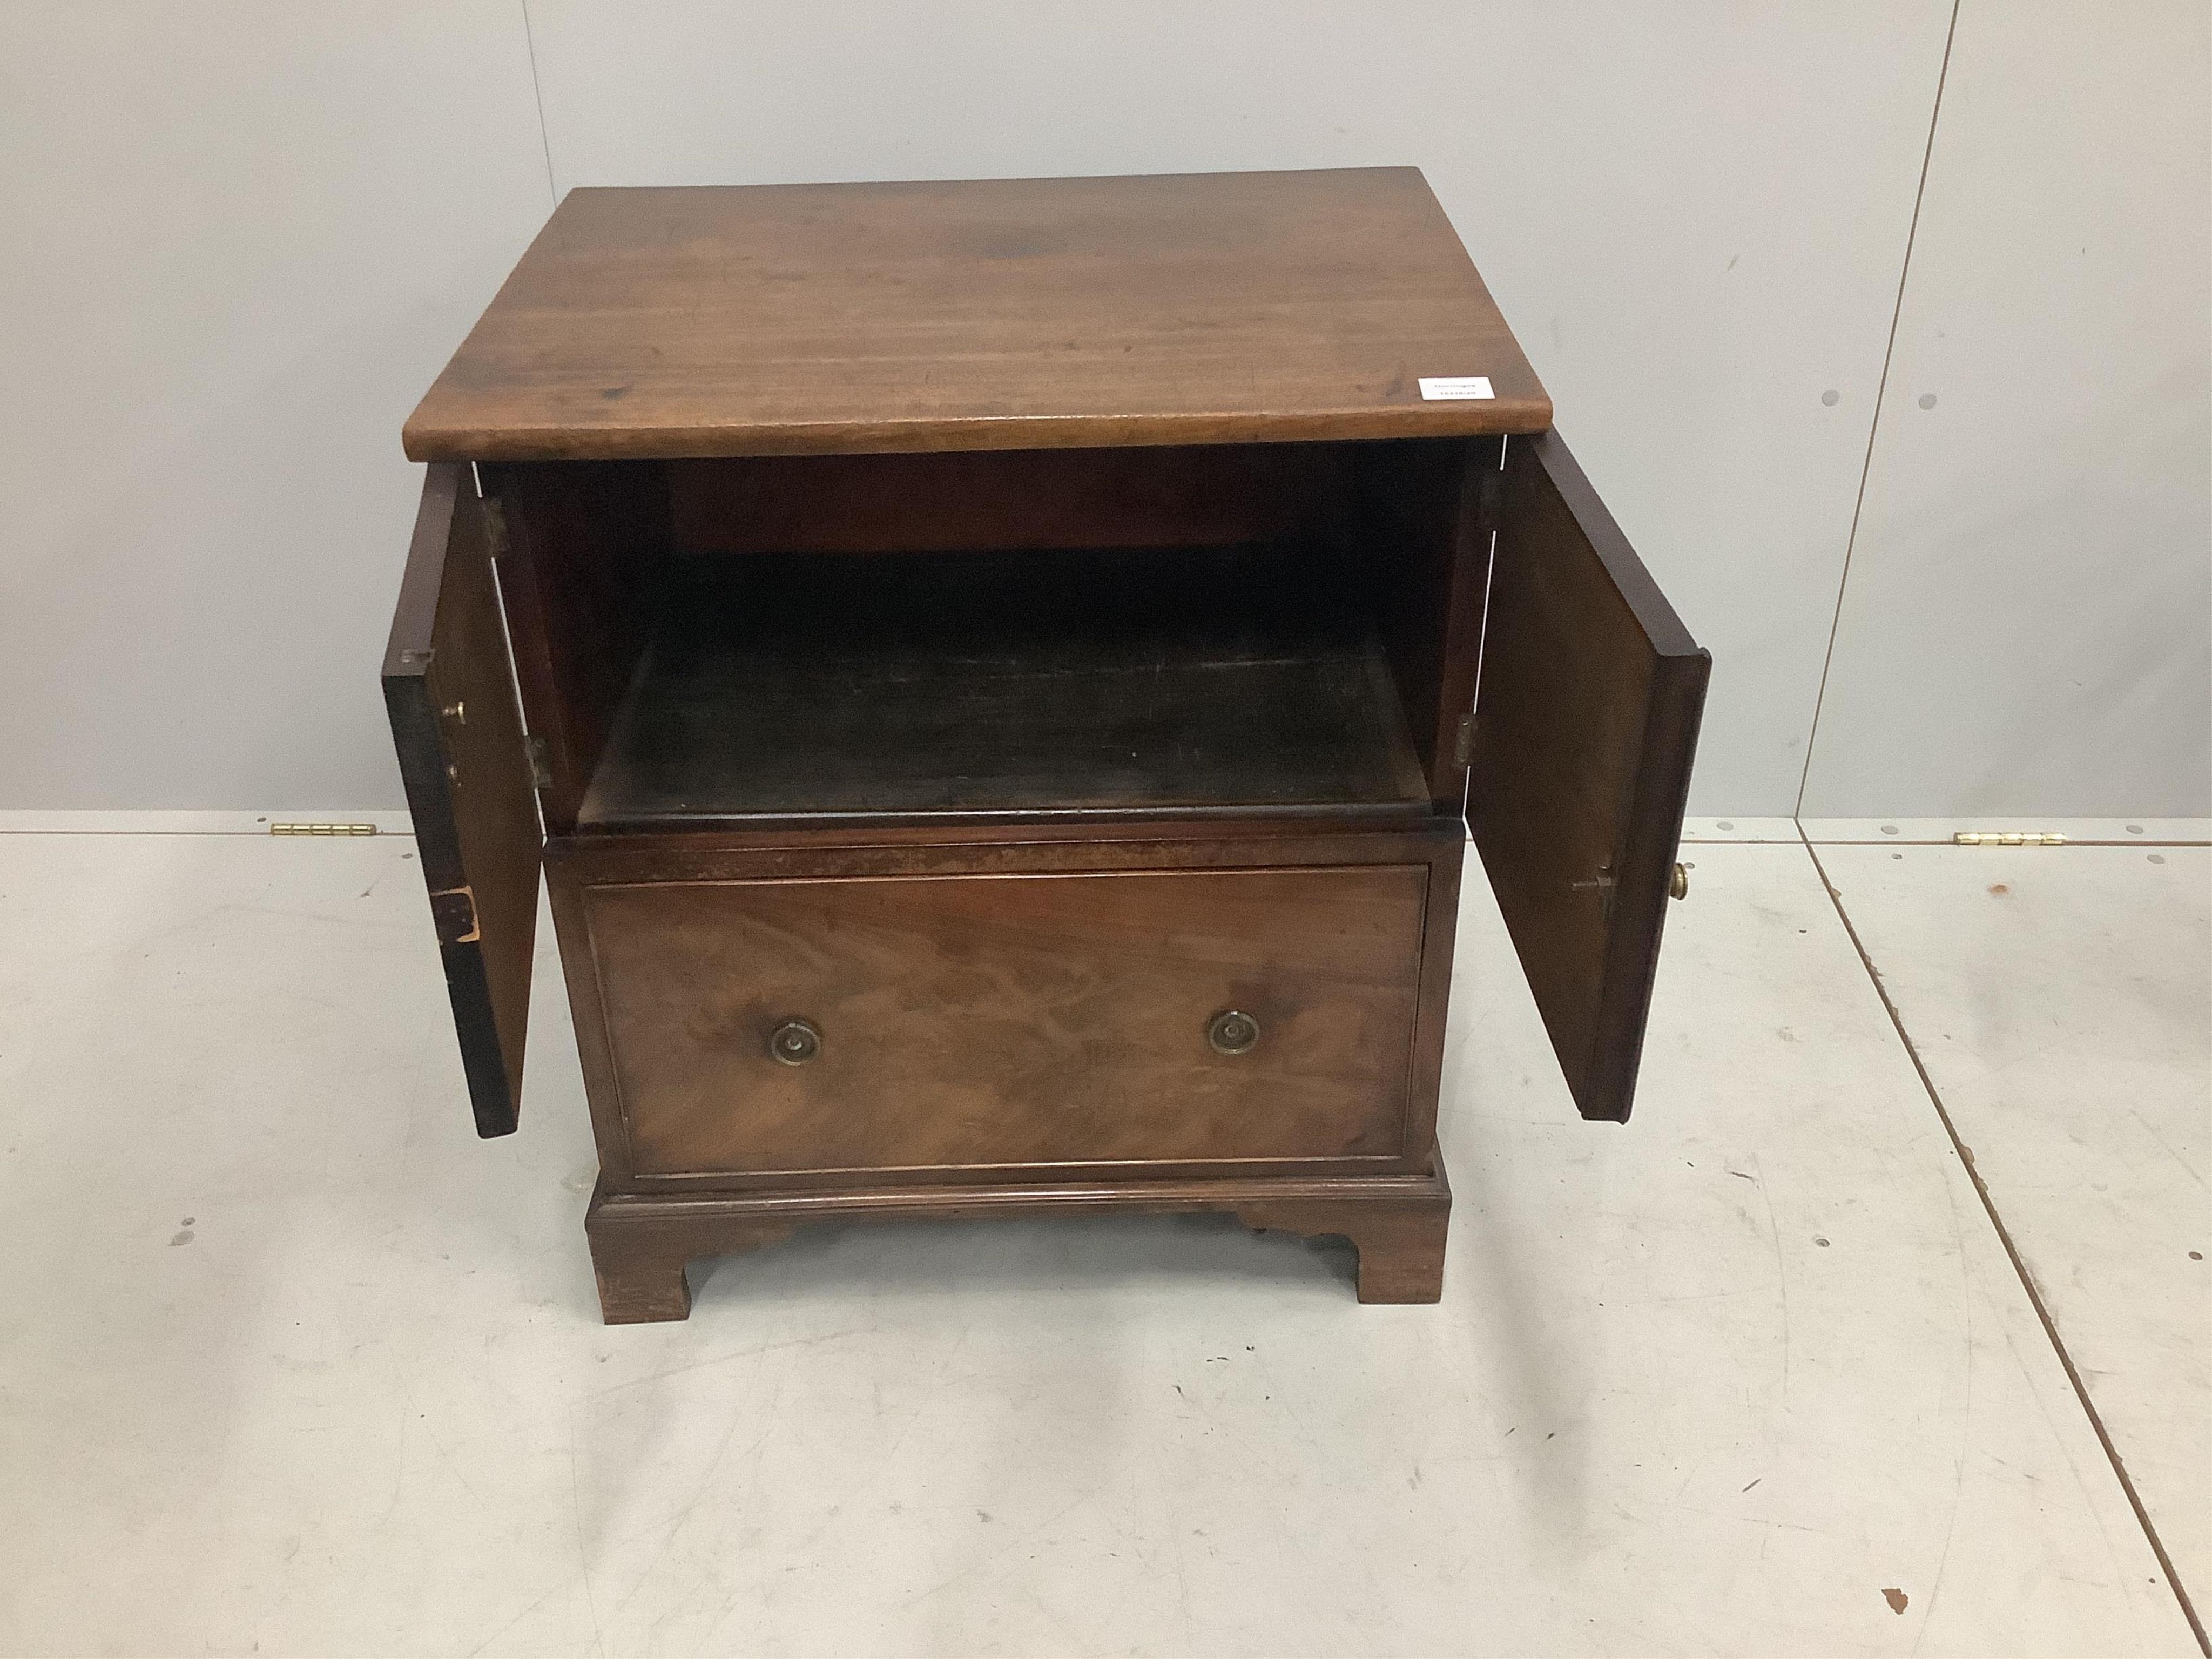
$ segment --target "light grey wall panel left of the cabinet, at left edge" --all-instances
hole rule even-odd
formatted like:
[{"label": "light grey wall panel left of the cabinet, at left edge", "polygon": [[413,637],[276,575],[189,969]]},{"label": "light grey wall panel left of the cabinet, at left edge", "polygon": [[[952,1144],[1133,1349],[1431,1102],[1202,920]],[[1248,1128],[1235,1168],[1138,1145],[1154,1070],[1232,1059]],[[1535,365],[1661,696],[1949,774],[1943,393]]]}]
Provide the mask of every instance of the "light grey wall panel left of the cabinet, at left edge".
[{"label": "light grey wall panel left of the cabinet, at left edge", "polygon": [[513,0],[0,7],[0,805],[400,801],[398,429],[549,204]]}]

